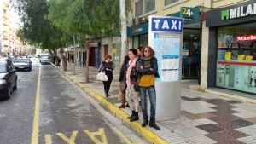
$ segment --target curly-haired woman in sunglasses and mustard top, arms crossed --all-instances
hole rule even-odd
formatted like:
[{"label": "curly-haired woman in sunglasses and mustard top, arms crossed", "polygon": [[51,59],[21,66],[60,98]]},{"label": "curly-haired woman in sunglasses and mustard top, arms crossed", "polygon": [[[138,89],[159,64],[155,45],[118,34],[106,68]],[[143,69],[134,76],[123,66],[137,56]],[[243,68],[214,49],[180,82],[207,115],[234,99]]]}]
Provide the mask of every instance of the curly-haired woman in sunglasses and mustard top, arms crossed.
[{"label": "curly-haired woman in sunglasses and mustard top, arms crossed", "polygon": [[142,99],[143,109],[143,124],[145,127],[148,124],[148,112],[147,112],[147,93],[150,100],[150,122],[149,126],[156,130],[160,130],[160,127],[155,124],[155,108],[156,108],[156,95],[154,88],[154,79],[159,78],[157,59],[154,57],[154,50],[147,46],[142,49],[142,58],[138,61],[138,74],[140,86],[139,93]]}]

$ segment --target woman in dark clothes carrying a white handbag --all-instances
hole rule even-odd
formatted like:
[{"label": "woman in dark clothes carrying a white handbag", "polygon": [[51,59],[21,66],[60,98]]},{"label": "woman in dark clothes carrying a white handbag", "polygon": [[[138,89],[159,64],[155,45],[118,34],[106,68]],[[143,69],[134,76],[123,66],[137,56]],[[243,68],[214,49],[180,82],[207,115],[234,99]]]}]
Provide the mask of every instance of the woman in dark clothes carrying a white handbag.
[{"label": "woman in dark clothes carrying a white handbag", "polygon": [[106,97],[110,96],[108,92],[110,89],[110,84],[112,83],[112,80],[113,80],[113,68],[114,68],[114,63],[112,61],[112,56],[106,55],[105,60],[102,61],[102,64],[99,68],[99,72],[104,71],[105,74],[108,76],[108,81],[105,81],[105,82],[103,81]]}]

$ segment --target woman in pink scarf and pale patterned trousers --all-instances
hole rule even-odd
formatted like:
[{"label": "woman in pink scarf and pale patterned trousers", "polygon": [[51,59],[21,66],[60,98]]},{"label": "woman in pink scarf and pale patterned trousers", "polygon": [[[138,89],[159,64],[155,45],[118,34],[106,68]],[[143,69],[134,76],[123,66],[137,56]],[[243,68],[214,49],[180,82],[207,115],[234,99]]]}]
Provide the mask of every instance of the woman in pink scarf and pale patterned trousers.
[{"label": "woman in pink scarf and pale patterned trousers", "polygon": [[131,107],[131,116],[128,117],[131,122],[139,119],[138,110],[139,110],[139,102],[138,102],[138,94],[134,90],[134,84],[137,84],[137,49],[129,49],[128,51],[129,62],[126,66],[126,84],[127,89],[125,91],[126,101],[129,103]]}]

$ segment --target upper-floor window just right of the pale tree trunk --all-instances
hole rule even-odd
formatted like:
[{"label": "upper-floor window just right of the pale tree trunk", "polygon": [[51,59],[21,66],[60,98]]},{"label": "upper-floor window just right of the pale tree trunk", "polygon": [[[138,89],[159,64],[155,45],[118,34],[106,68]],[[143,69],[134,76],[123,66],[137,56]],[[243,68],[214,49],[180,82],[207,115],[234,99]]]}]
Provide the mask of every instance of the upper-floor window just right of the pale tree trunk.
[{"label": "upper-floor window just right of the pale tree trunk", "polygon": [[155,10],[155,0],[138,0],[135,3],[135,16],[139,17],[143,14]]}]

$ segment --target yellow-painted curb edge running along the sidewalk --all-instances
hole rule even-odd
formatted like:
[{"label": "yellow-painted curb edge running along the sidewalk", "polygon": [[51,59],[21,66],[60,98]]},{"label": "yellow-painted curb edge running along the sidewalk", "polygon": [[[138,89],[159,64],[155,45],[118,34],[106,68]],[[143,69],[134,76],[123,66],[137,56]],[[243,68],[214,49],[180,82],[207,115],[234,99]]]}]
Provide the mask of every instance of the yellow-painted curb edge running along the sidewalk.
[{"label": "yellow-painted curb edge running along the sidewalk", "polygon": [[90,95],[90,97],[93,97],[96,101],[100,102],[103,106],[107,107],[108,110],[112,111],[115,117],[119,117],[120,119],[122,119],[123,124],[126,124],[132,130],[135,130],[141,137],[144,137],[150,143],[167,144],[166,141],[162,140],[158,135],[155,135],[151,130],[143,128],[140,123],[130,122],[130,119],[127,118],[129,115],[126,112],[114,106],[102,95],[99,95],[94,90],[86,87],[84,84],[79,83],[79,81],[71,78],[68,74],[65,74],[65,76],[68,79],[72,80],[74,84],[77,84],[80,88],[84,89],[84,91],[87,92]]}]

